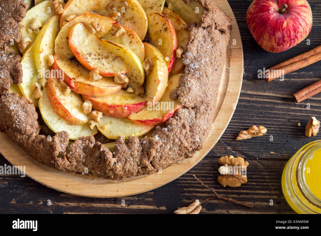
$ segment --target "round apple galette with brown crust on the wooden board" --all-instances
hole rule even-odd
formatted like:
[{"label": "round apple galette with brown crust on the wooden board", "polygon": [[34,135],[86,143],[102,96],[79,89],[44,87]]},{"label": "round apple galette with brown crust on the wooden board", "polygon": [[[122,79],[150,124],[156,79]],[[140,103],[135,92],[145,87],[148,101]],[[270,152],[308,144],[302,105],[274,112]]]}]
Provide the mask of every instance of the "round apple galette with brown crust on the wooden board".
[{"label": "round apple galette with brown crust on the wooden board", "polygon": [[202,148],[231,30],[215,0],[0,3],[0,129],[32,158],[124,179]]}]

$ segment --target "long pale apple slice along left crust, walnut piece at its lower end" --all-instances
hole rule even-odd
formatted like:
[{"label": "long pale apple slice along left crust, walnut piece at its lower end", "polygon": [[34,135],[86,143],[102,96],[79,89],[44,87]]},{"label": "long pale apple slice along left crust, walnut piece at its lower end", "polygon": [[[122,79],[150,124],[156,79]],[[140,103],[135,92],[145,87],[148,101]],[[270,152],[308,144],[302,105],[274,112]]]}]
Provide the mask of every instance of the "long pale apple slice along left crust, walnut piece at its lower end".
[{"label": "long pale apple slice along left crust, walnut piece at its lower end", "polygon": [[[26,100],[33,103],[35,107],[38,107],[38,100],[32,98],[34,93],[32,86],[37,82],[39,83],[38,72],[33,61],[33,45],[25,52],[21,59],[22,65],[22,83],[19,84],[20,91]],[[40,76],[39,76],[40,77]]]}]

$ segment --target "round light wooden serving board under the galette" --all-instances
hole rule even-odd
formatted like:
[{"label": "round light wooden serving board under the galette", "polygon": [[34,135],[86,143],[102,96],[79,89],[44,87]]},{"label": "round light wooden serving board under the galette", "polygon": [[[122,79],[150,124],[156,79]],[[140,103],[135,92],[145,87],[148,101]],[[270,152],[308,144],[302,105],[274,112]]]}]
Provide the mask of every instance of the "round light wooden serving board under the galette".
[{"label": "round light wooden serving board under the galette", "polygon": [[[25,166],[31,179],[58,191],[84,197],[123,197],[158,188],[173,181],[195,166],[220,139],[233,116],[243,78],[243,49],[239,28],[227,0],[217,0],[221,9],[232,19],[233,30],[227,48],[227,60],[219,88],[212,128],[201,151],[191,159],[181,160],[151,175],[106,180],[51,169],[26,155],[16,144],[0,134],[0,153],[14,166]],[[234,40],[235,39],[235,40]],[[233,45],[233,41],[236,45]],[[234,43],[234,44],[235,44]]]}]

